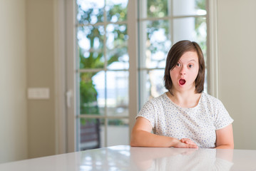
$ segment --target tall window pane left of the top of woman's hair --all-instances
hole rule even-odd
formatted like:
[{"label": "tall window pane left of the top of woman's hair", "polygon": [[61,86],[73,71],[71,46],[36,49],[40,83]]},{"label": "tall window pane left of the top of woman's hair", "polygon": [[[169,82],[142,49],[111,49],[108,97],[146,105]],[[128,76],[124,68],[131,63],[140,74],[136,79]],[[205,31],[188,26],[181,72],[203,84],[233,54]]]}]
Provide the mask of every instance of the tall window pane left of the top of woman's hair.
[{"label": "tall window pane left of the top of woman's hair", "polygon": [[164,68],[170,50],[170,23],[143,21],[140,31],[140,68]]}]

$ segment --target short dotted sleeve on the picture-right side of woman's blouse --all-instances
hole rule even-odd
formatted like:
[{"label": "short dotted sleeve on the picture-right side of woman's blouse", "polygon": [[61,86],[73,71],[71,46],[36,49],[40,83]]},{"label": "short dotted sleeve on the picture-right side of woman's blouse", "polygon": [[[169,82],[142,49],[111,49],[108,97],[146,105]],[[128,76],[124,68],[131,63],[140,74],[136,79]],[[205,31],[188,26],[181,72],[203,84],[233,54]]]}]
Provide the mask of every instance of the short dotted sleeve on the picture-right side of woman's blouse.
[{"label": "short dotted sleeve on the picture-right side of woman's blouse", "polygon": [[215,113],[215,129],[220,130],[230,125],[234,120],[230,117],[230,114],[225,109],[224,105],[220,100],[217,100]]}]

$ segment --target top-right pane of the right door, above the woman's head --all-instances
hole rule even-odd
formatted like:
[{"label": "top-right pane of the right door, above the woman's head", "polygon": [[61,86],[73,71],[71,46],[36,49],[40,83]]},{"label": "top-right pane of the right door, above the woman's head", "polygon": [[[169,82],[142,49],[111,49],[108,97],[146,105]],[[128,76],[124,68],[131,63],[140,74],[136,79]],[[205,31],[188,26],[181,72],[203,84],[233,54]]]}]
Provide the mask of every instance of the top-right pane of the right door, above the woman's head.
[{"label": "top-right pane of the right door, above the woman's head", "polygon": [[205,15],[205,0],[173,0],[173,15]]}]

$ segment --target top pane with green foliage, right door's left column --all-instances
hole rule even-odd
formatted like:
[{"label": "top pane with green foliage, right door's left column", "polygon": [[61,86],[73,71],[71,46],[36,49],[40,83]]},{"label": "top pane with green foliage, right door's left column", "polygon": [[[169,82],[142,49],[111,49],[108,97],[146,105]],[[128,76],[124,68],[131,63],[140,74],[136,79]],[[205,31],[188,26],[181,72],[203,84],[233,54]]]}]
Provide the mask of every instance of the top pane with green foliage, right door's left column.
[{"label": "top pane with green foliage, right door's left column", "polygon": [[[163,17],[168,16],[168,6],[170,6],[170,1],[150,1],[150,0],[140,0],[140,19],[147,17]],[[147,9],[145,9],[147,8]]]}]

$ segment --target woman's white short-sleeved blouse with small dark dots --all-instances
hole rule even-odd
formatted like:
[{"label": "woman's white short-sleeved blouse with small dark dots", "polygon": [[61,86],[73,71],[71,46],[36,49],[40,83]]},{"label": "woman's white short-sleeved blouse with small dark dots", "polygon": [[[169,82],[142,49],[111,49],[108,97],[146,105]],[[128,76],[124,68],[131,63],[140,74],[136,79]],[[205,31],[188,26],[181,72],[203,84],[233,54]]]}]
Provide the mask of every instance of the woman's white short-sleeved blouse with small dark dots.
[{"label": "woman's white short-sleeved blouse with small dark dots", "polygon": [[163,93],[148,100],[138,117],[149,120],[157,135],[190,138],[203,148],[215,147],[215,130],[233,122],[221,101],[206,93],[202,93],[195,108],[181,108]]}]

